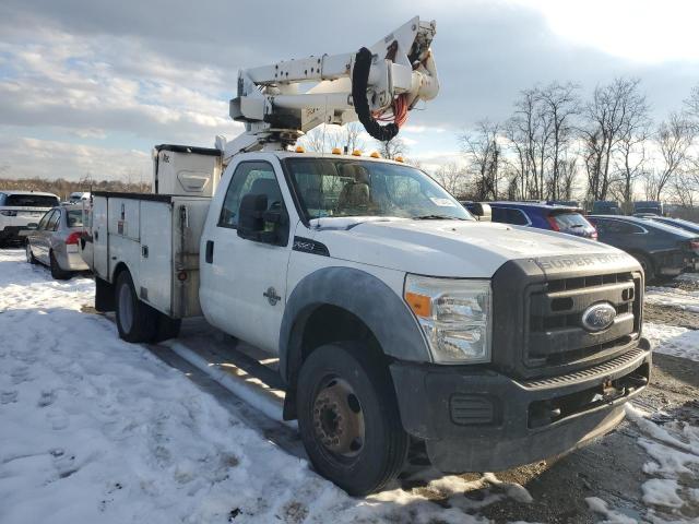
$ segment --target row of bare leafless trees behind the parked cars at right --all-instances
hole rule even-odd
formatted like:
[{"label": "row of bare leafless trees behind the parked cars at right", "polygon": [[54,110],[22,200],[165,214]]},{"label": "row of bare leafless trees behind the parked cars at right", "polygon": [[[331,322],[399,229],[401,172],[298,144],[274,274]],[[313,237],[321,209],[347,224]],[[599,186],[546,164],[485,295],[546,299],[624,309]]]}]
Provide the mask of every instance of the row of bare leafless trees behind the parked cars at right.
[{"label": "row of bare leafless trees behind the parked cars at right", "polygon": [[699,195],[699,86],[660,122],[638,79],[618,78],[583,99],[568,82],[520,92],[502,122],[459,134],[464,163],[434,174],[470,200],[668,200]]}]

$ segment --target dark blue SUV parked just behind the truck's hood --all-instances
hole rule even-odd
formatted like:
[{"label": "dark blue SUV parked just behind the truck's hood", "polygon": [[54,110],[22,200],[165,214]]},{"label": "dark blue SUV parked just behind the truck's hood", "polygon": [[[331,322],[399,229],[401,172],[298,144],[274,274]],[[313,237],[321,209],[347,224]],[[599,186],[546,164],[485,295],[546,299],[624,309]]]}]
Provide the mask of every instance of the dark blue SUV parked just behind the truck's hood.
[{"label": "dark blue SUV parked just behind the truck's hood", "polygon": [[530,226],[567,233],[577,237],[597,238],[597,231],[578,207],[540,202],[489,202],[493,222]]}]

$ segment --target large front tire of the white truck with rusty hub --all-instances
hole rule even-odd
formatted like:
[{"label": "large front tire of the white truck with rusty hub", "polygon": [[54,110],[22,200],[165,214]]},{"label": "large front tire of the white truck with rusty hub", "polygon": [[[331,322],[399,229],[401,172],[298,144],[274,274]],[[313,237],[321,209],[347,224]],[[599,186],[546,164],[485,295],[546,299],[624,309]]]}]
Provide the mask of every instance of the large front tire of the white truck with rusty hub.
[{"label": "large front tire of the white truck with rusty hub", "polygon": [[297,386],[298,427],[316,471],[353,496],[381,490],[403,469],[410,438],[388,368],[368,347],[319,347]]}]

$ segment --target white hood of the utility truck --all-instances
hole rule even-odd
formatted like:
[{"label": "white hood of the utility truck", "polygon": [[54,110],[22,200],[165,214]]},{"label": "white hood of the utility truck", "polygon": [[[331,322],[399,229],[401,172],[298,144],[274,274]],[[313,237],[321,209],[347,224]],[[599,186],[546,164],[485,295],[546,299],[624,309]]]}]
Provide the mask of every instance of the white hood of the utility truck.
[{"label": "white hood of the utility truck", "polygon": [[323,219],[315,240],[330,255],[407,273],[489,278],[508,260],[621,251],[571,235],[484,222]]}]

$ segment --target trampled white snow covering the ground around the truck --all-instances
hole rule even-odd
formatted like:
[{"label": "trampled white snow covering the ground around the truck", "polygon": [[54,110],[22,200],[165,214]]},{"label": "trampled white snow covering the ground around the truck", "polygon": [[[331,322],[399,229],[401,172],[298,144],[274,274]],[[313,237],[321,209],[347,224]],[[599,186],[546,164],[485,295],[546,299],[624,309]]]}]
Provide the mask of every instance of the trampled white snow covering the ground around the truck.
[{"label": "trampled white snow covering the ground around the truck", "polygon": [[[22,251],[0,250],[2,524],[467,524],[489,522],[479,514],[488,504],[532,501],[493,474],[351,498],[185,373],[120,341],[109,320],[82,312],[93,293],[87,278],[55,282]],[[697,332],[649,324],[647,333],[664,353],[699,360]],[[699,474],[699,430],[661,427],[635,409],[629,416],[643,432],[652,477],[643,485],[645,516],[663,522],[659,515],[699,503],[682,484]],[[464,496],[475,490],[481,497]],[[635,522],[597,495],[588,502],[602,517]]]}]

